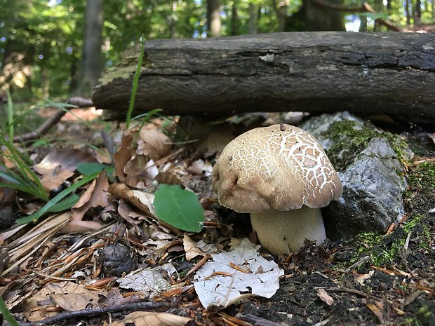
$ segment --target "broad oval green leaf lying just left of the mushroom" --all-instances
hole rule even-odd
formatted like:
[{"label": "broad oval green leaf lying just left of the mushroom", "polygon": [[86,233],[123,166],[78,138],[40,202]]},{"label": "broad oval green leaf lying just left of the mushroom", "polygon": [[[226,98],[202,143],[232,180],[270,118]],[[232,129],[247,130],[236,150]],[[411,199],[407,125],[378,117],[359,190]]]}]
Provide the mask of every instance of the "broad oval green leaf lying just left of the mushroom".
[{"label": "broad oval green leaf lying just left of the mushroom", "polygon": [[161,184],[155,193],[154,208],[159,219],[185,231],[199,232],[204,214],[196,195],[180,186]]}]

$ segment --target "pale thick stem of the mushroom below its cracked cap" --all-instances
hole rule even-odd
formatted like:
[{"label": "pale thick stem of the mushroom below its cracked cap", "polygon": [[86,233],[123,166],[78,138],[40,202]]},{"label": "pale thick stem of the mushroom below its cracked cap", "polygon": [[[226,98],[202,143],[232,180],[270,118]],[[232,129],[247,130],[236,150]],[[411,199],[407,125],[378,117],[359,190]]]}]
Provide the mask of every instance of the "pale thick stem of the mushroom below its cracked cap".
[{"label": "pale thick stem of the mushroom below its cracked cap", "polygon": [[250,222],[262,246],[272,254],[298,252],[305,239],[318,245],[326,239],[320,208],[250,213]]}]

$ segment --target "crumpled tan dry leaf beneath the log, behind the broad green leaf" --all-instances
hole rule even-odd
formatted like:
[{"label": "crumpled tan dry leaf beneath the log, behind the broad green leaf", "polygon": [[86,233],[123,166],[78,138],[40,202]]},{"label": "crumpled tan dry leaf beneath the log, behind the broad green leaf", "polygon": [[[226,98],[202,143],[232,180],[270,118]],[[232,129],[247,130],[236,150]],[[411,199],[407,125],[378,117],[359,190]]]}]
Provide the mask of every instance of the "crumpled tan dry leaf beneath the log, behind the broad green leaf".
[{"label": "crumpled tan dry leaf beneath the log, behind the broad green leaf", "polygon": [[140,140],[138,141],[138,154],[147,155],[154,161],[170,154],[170,139],[159,130],[145,129],[140,130]]}]

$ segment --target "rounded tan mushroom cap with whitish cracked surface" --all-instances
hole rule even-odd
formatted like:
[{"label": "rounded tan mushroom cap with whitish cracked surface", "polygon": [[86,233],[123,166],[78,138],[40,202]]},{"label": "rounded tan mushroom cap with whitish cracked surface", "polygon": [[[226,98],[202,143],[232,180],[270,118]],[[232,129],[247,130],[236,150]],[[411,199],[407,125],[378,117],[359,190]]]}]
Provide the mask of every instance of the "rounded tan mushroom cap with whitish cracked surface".
[{"label": "rounded tan mushroom cap with whitish cracked surface", "polygon": [[316,138],[282,123],[249,130],[229,142],[211,182],[221,205],[245,213],[321,208],[343,192]]}]

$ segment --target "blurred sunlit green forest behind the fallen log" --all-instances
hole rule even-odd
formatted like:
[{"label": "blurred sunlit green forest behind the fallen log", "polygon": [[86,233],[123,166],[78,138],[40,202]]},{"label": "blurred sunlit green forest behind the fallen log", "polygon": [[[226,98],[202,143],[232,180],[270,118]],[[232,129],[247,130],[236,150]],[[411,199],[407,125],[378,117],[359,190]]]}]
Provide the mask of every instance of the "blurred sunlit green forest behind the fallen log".
[{"label": "blurred sunlit green forest behind the fallen log", "polygon": [[[435,0],[0,0],[0,94],[6,101],[89,96],[105,68],[145,39],[302,30],[387,31],[435,23]],[[335,8],[331,8],[334,7]],[[337,10],[338,9],[338,10]]]}]

